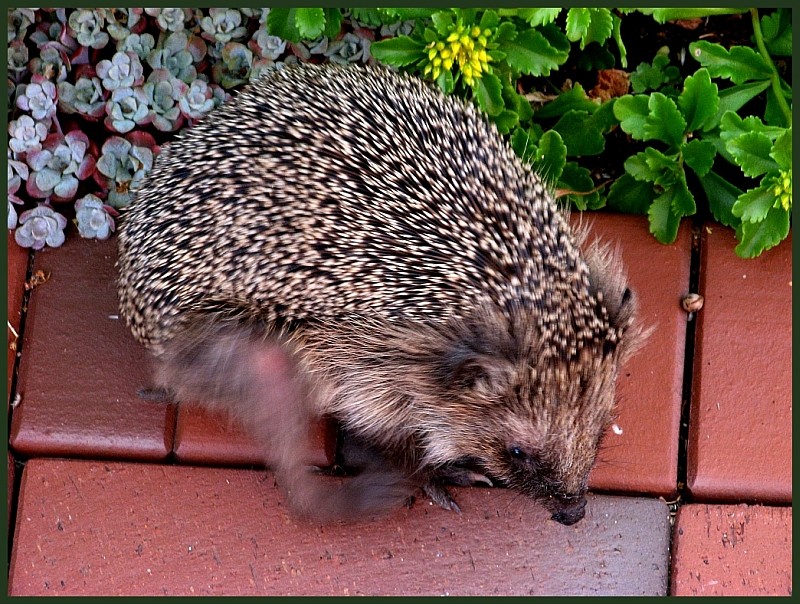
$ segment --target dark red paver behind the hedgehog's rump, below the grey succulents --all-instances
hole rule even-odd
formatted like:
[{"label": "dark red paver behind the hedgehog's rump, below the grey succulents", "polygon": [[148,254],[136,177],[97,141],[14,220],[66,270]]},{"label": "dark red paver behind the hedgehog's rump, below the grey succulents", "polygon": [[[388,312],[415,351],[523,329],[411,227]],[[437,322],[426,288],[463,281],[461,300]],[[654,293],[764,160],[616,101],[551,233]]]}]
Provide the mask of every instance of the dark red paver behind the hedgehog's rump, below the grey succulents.
[{"label": "dark red paver behind the hedgehog's rump, below the grey succulents", "polygon": [[25,325],[12,449],[23,455],[164,459],[174,408],[136,392],[149,380],[144,350],[118,318],[116,240],[38,252]]}]

